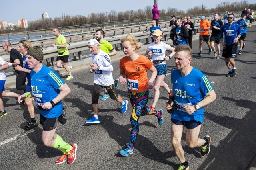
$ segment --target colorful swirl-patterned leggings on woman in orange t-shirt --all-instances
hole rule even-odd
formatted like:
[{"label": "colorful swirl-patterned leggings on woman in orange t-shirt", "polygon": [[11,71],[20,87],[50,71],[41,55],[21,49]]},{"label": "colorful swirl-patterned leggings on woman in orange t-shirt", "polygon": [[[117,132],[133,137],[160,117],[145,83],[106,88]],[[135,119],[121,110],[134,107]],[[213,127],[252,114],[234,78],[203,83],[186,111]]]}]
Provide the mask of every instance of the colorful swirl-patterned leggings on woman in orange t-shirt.
[{"label": "colorful swirl-patterned leggings on woman in orange t-shirt", "polygon": [[132,131],[129,143],[129,145],[133,147],[139,133],[140,116],[154,115],[156,117],[159,117],[161,115],[159,115],[158,111],[146,107],[146,104],[148,102],[149,90],[140,93],[134,93],[128,90],[128,95],[133,107],[132,115],[130,118],[132,124]]}]

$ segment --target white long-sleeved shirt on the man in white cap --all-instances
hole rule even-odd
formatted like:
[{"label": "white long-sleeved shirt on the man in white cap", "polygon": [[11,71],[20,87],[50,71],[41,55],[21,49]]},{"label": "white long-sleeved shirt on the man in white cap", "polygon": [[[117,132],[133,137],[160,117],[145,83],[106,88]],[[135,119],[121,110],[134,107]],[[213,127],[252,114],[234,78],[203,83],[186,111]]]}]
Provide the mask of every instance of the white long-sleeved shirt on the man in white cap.
[{"label": "white long-sleeved shirt on the man in white cap", "polygon": [[112,76],[113,66],[107,53],[100,50],[98,55],[92,54],[92,63],[100,66],[100,70],[94,70],[94,83],[101,86],[114,84]]}]

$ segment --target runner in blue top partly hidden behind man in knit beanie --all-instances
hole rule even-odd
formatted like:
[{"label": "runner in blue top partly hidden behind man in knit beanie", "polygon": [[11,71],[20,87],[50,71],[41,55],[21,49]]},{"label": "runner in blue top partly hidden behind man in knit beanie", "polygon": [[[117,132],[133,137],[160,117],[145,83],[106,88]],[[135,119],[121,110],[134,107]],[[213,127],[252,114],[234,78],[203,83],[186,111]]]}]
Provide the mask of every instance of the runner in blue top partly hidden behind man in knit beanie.
[{"label": "runner in blue top partly hidden behind man in knit beanie", "polygon": [[[26,55],[27,55],[27,52],[29,49],[32,48],[32,44],[26,40],[26,39],[22,39],[20,40],[20,43],[19,43],[19,51],[21,54],[23,54],[23,67],[19,66],[19,65],[16,65],[15,66],[15,69],[18,70],[18,71],[22,71],[22,72],[25,72],[26,74],[26,77],[27,77],[27,80],[28,80],[28,83],[27,83],[27,87],[26,87],[26,92],[31,92],[32,89],[31,89],[31,76],[30,76],[30,72],[31,72],[31,69],[28,67],[28,64],[26,63]],[[34,105],[33,105],[33,98],[26,98],[26,105],[28,107],[28,113],[30,114],[30,118],[31,118],[31,121],[28,123],[28,125],[25,126],[25,130],[30,130],[32,129],[33,127],[37,127],[38,126],[38,123],[36,121],[36,116],[35,116],[35,108],[34,108]]]}]

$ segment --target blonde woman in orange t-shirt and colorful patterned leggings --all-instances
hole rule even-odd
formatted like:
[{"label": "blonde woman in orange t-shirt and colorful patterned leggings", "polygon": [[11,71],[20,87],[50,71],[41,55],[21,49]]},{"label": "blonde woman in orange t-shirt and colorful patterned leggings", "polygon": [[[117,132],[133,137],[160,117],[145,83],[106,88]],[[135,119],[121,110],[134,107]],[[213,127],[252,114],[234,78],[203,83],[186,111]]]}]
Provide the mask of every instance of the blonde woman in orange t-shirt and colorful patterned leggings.
[{"label": "blonde woman in orange t-shirt and colorful patterned leggings", "polygon": [[[133,107],[130,118],[132,124],[130,143],[129,145],[124,145],[123,149],[120,150],[122,156],[128,156],[133,153],[134,143],[139,133],[138,121],[140,116],[154,115],[157,117],[158,123],[162,125],[164,111],[162,109],[152,111],[152,109],[146,108],[149,89],[153,88],[153,81],[157,76],[157,70],[146,56],[136,54],[136,51],[141,48],[142,44],[138,43],[132,34],[121,39],[121,43],[125,56],[120,59],[119,80],[120,84],[127,84],[128,96]],[[147,70],[151,72],[150,80],[148,80]]]}]

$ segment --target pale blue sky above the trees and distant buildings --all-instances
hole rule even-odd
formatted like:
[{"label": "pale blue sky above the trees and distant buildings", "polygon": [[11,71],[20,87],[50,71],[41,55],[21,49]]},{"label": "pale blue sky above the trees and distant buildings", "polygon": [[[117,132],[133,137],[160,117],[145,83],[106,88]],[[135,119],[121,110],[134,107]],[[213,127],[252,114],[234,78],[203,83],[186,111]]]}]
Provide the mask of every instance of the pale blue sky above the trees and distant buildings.
[{"label": "pale blue sky above the trees and distant buildings", "polygon": [[[202,5],[202,0],[182,0],[182,4],[176,2],[179,1],[158,0],[158,9],[170,7],[187,10]],[[212,8],[221,2],[223,0],[207,0],[204,5],[207,8]],[[226,2],[234,2],[234,0],[226,0]],[[248,2],[255,3],[255,0],[248,0]],[[1,0],[0,4],[0,21],[15,23],[16,20],[22,18],[28,21],[40,19],[44,12],[48,12],[49,16],[54,19],[60,17],[62,12],[70,16],[88,16],[92,12],[108,12],[110,10],[121,12],[144,9],[148,5],[153,8],[154,0]]]}]

